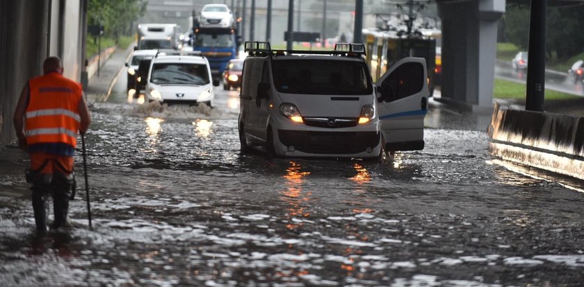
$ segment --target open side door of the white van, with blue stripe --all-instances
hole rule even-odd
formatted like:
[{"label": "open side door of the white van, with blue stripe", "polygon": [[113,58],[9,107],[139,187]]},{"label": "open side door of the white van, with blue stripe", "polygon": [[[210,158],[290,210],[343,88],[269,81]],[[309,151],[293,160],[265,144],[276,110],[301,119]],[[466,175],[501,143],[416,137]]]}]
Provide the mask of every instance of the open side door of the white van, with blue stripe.
[{"label": "open side door of the white van, with blue stripe", "polygon": [[428,83],[424,58],[403,58],[375,83],[386,151],[422,150]]}]

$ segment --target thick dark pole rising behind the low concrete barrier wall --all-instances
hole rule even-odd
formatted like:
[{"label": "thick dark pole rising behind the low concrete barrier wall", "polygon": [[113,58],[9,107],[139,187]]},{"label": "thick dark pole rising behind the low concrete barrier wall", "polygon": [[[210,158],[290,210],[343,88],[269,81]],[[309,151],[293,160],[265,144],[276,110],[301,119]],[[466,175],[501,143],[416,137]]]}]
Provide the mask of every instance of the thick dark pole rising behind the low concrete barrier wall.
[{"label": "thick dark pole rising behind the low concrete barrier wall", "polygon": [[546,4],[531,0],[525,110],[543,112],[546,79]]}]

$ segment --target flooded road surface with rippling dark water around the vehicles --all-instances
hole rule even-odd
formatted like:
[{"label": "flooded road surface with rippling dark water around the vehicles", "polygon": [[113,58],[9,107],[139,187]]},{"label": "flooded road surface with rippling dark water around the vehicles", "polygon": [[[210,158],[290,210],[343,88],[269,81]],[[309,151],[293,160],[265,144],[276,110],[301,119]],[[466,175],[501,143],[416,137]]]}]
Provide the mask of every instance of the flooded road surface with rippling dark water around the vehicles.
[{"label": "flooded road surface with rippling dark water around the vehicles", "polygon": [[39,238],[26,156],[0,153],[3,286],[584,281],[584,193],[490,157],[486,126],[428,128],[424,150],[379,164],[268,160],[239,153],[238,91],[160,107],[124,85],[90,108],[92,230],[81,165],[72,228]]}]

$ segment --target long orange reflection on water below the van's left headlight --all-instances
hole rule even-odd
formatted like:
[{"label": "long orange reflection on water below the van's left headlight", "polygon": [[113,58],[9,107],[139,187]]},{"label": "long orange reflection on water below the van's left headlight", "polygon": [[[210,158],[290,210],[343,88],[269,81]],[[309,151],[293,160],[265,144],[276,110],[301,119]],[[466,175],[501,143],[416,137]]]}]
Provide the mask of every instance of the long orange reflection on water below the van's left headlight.
[{"label": "long orange reflection on water below the van's left headlight", "polygon": [[289,168],[286,168],[286,174],[283,176],[286,179],[286,186],[288,186],[284,191],[282,191],[282,200],[287,202],[290,207],[286,218],[289,220],[289,224],[286,225],[287,229],[295,229],[302,225],[302,220],[295,218],[298,217],[309,217],[310,212],[305,210],[302,206],[303,203],[310,200],[311,192],[302,193],[302,183],[303,178],[310,174],[309,171],[301,171],[302,167],[298,162],[290,162]]}]

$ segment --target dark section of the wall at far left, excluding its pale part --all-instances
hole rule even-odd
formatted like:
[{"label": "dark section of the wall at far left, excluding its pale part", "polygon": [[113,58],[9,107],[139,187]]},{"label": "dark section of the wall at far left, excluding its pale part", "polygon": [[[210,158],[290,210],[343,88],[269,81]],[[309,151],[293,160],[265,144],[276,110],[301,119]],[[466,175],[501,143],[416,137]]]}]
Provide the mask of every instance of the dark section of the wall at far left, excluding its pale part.
[{"label": "dark section of the wall at far left, excluding its pale part", "polygon": [[0,1],[0,149],[16,139],[13,114],[22,87],[42,73],[49,2]]}]

